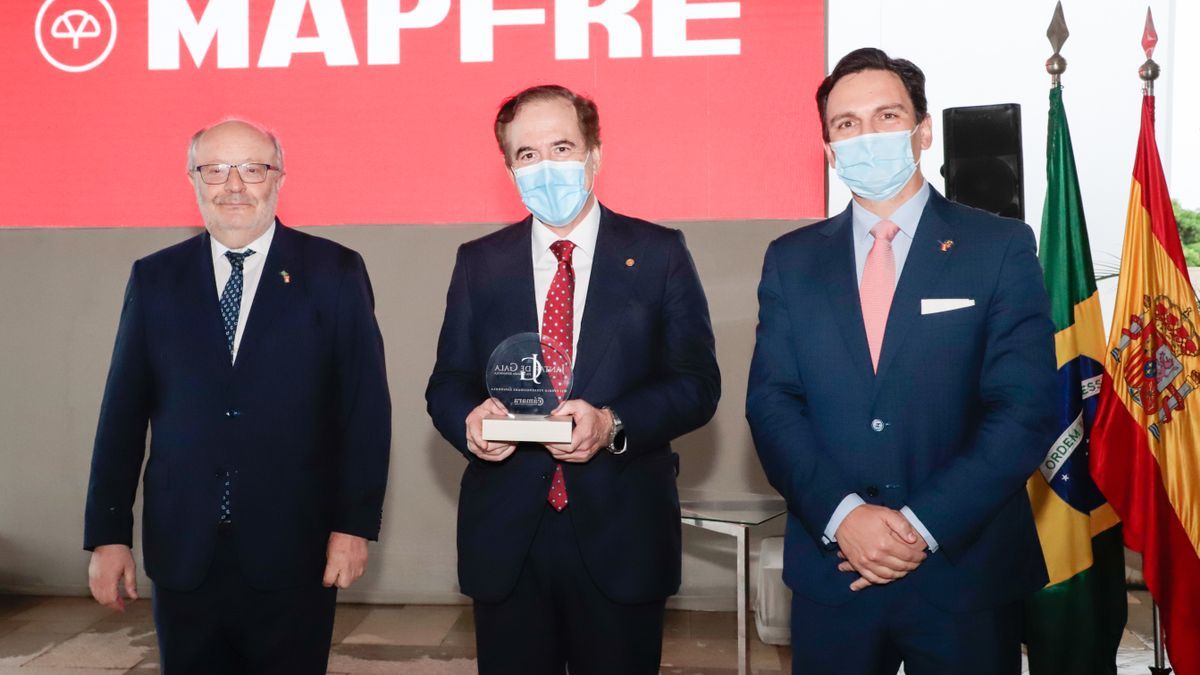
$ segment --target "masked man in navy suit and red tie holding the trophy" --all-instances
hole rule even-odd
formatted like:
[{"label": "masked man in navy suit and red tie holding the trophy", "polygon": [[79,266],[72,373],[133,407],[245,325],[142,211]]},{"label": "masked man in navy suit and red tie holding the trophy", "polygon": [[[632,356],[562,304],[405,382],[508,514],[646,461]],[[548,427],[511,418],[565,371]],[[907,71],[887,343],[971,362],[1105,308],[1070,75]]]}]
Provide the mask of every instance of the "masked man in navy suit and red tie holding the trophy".
[{"label": "masked man in navy suit and red tie holding the trophy", "polygon": [[[467,459],[458,581],[475,601],[479,670],[658,673],[679,589],[679,460],[720,394],[708,304],[683,234],[616,214],[593,193],[595,103],[527,89],[496,119],[532,215],[464,244],[446,294],[430,416]],[[488,442],[493,348],[553,335],[574,360],[570,443]]]}]

